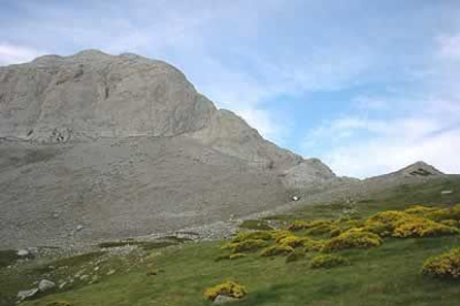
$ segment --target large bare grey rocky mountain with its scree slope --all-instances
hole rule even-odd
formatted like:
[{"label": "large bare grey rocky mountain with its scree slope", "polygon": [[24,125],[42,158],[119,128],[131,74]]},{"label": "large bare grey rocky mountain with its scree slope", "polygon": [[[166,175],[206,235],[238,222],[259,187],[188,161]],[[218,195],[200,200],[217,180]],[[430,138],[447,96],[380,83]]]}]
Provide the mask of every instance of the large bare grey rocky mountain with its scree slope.
[{"label": "large bare grey rocky mountain with its scree slope", "polygon": [[0,68],[0,247],[227,221],[288,202],[292,182],[336,177],[136,54]]}]

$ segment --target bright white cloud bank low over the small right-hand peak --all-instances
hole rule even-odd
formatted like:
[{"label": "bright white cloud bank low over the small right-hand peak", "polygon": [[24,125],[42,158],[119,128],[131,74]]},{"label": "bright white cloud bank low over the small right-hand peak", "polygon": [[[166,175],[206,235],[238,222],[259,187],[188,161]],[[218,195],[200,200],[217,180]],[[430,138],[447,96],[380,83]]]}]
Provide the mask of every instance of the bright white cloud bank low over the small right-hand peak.
[{"label": "bright white cloud bank low over the small right-hand peak", "polygon": [[424,101],[387,119],[342,116],[323,123],[307,140],[306,151],[311,143],[329,144],[322,157],[339,175],[362,178],[421,160],[459,173],[460,101]]}]

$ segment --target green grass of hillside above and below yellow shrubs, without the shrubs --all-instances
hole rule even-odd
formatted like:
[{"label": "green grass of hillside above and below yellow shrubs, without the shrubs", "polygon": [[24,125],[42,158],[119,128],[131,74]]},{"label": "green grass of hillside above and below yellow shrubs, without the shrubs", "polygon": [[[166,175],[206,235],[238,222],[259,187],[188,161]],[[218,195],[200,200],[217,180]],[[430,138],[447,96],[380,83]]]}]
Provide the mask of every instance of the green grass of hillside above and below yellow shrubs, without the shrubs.
[{"label": "green grass of hillside above and below yellow shrubs, without the shrubs", "polygon": [[[293,214],[270,217],[263,221],[263,224],[286,227],[296,220],[338,218],[363,222],[378,212],[402,211],[419,203],[449,207],[450,203],[458,198],[446,200],[440,195],[440,191],[446,190],[447,185],[451,190],[459,190],[459,181],[447,181],[436,187],[402,186],[388,191],[384,195],[380,194],[379,201],[370,198],[354,204],[308,206]],[[450,196],[458,195],[453,193]],[[270,232],[270,227],[262,230]],[[293,234],[310,235],[307,232]],[[311,236],[330,239],[324,233]],[[238,282],[248,290],[246,298],[234,304],[241,306],[451,306],[457,305],[460,299],[459,278],[436,278],[421,274],[423,262],[428,257],[460,247],[460,235],[384,237],[378,247],[334,252],[334,255],[346,258],[349,264],[333,268],[311,267],[312,258],[320,254],[319,252],[308,252],[290,263],[287,263],[286,256],[262,257],[261,249],[244,252],[246,255],[237,259],[216,261],[228,254],[228,251],[221,249],[226,243],[186,242],[129,256],[107,258],[103,253],[94,253],[40,267],[26,265],[14,273],[1,268],[0,300],[2,296],[6,300],[7,295],[16,294],[18,289],[29,288],[43,273],[49,279],[59,282],[81,271],[91,277],[98,275],[98,278],[94,278],[93,284],[76,280],[62,290],[56,289],[47,296],[21,305],[47,306],[59,305],[52,304],[54,302],[67,302],[73,306],[204,306],[212,303],[203,298],[203,290],[228,279]],[[52,269],[49,266],[52,266]],[[111,269],[117,272],[108,275]]]}]

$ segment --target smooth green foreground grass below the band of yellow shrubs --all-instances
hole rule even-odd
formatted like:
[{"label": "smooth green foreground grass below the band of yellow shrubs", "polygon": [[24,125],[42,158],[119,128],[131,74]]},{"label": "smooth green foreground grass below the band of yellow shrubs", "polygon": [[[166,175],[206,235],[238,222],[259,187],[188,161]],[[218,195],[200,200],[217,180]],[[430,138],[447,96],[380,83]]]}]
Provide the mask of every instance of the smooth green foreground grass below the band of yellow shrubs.
[{"label": "smooth green foreground grass below the band of yellow shrubs", "polygon": [[258,255],[213,262],[219,243],[164,249],[144,265],[164,271],[147,276],[144,266],[76,290],[47,296],[26,305],[42,306],[56,299],[72,305],[210,305],[206,287],[226,279],[244,285],[249,295],[238,305],[456,305],[460,284],[424,277],[423,261],[458,246],[458,237],[389,239],[378,248],[347,251],[350,266],[327,271],[309,267],[311,255],[286,264],[286,258]]}]

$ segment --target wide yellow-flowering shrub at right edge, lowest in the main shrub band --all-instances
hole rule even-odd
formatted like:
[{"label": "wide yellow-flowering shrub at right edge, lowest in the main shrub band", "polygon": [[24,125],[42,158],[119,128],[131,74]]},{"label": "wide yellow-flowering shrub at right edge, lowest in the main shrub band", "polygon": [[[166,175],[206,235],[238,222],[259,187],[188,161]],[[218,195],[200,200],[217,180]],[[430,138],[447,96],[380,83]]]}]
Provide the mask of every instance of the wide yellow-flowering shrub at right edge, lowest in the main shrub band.
[{"label": "wide yellow-flowering shrub at right edge, lowest in the main shrub band", "polygon": [[458,234],[459,230],[424,217],[406,217],[396,223],[394,237],[433,237]]}]

